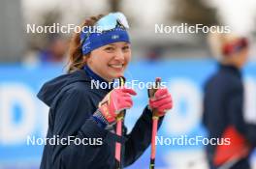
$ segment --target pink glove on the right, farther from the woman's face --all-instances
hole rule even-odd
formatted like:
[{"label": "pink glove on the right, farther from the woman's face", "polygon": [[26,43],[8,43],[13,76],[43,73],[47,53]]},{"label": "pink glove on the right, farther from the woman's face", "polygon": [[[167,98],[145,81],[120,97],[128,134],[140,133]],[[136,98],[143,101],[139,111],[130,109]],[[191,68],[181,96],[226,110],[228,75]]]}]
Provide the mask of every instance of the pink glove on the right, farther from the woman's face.
[{"label": "pink glove on the right, farther from the woman's face", "polygon": [[157,116],[161,117],[173,108],[173,99],[167,88],[160,88],[156,91],[153,98],[149,99],[149,108],[156,109]]}]

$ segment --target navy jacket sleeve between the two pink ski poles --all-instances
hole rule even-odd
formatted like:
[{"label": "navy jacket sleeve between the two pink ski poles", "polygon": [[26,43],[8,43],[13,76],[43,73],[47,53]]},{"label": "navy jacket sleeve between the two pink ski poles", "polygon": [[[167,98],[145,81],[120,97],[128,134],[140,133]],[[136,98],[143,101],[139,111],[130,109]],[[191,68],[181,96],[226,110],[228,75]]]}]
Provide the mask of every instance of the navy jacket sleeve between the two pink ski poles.
[{"label": "navy jacket sleeve between the two pink ski poles", "polygon": [[[158,129],[162,125],[164,117],[161,117],[158,122]],[[143,155],[146,148],[151,142],[152,131],[152,112],[144,108],[144,112],[136,122],[131,133],[127,135],[125,142],[124,166],[129,166]]]}]

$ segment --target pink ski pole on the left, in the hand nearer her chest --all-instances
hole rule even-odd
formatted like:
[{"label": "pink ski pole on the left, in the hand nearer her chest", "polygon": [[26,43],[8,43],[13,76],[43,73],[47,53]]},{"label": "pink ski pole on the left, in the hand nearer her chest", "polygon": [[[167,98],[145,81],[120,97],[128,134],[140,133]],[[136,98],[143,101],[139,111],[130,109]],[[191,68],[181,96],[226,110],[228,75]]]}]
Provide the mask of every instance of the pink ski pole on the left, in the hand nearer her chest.
[{"label": "pink ski pole on the left, in the hand nearer her chest", "polygon": [[[125,83],[125,78],[124,77],[119,77],[119,86],[124,86]],[[123,117],[125,114],[125,110],[122,110],[116,117],[116,130],[115,133],[116,135],[121,136],[122,135],[122,122],[123,122]],[[115,143],[115,168],[120,169],[121,168],[121,144],[120,143]]]}]

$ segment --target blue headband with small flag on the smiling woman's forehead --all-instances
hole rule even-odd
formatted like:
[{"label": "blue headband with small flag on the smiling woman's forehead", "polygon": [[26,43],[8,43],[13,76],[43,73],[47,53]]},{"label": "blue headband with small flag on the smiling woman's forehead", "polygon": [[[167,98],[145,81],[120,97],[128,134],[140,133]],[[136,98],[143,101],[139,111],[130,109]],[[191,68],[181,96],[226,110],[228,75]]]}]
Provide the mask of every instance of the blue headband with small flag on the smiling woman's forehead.
[{"label": "blue headband with small flag on the smiling woman's forehead", "polygon": [[[87,28],[88,29],[88,28]],[[110,31],[103,31],[101,33],[87,33],[81,31],[80,33],[82,54],[86,55],[92,50],[112,42],[130,42],[129,35],[125,28],[116,26]]]}]

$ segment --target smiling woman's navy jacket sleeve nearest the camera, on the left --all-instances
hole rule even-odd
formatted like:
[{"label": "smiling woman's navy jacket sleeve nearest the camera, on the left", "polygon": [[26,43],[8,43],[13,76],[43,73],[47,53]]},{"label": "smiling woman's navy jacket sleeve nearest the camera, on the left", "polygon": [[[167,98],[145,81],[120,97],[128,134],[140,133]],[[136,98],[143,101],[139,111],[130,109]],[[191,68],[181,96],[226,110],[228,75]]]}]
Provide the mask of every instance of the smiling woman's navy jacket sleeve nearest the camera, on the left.
[{"label": "smiling woman's navy jacket sleeve nearest the camera, on the left", "polygon": [[[104,138],[107,130],[98,127],[90,117],[95,111],[90,96],[80,91],[66,91],[55,107],[53,134],[59,138],[74,136],[84,138]],[[81,125],[79,125],[81,124]],[[103,145],[54,145],[52,149],[52,168],[91,168],[95,156],[99,155]]]}]

